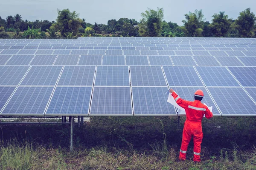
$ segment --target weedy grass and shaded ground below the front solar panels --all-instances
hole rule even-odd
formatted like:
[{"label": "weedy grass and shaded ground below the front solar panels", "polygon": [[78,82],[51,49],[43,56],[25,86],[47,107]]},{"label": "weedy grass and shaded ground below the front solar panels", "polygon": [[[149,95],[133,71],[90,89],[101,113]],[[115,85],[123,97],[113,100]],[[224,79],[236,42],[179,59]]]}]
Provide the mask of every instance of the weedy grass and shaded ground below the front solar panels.
[{"label": "weedy grass and shaded ground below the front solar panels", "polygon": [[61,125],[0,125],[3,170],[233,170],[256,169],[256,118],[203,120],[202,162],[179,161],[182,128],[177,117],[92,117],[74,128]]}]

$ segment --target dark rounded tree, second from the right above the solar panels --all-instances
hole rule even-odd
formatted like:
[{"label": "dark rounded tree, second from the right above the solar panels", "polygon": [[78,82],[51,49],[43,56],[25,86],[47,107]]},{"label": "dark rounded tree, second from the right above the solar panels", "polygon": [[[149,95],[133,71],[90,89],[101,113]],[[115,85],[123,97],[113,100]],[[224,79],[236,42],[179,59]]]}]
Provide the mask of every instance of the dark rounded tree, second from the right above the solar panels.
[{"label": "dark rounded tree, second from the right above the solar panels", "polygon": [[231,25],[228,16],[222,11],[219,14],[214,14],[212,17],[212,23],[209,27],[211,28],[214,37],[224,37]]}]

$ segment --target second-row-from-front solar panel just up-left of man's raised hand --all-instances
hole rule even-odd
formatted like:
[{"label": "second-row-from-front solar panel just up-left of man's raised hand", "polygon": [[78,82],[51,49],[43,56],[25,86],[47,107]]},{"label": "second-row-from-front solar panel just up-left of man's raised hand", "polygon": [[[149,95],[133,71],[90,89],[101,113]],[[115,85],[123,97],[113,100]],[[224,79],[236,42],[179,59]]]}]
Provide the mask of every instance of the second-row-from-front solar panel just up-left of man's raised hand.
[{"label": "second-row-from-front solar panel just up-left of man's raised hand", "polygon": [[130,73],[133,86],[166,86],[160,66],[130,66]]}]

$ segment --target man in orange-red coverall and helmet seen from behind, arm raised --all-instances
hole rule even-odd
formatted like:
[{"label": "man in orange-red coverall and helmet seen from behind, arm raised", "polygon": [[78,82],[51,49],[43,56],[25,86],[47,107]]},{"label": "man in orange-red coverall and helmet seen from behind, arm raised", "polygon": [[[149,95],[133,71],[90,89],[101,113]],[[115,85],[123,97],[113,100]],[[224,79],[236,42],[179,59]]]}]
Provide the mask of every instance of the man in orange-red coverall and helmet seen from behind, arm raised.
[{"label": "man in orange-red coverall and helmet seen from behind, arm raised", "polygon": [[194,158],[193,161],[200,162],[200,151],[201,143],[203,140],[203,130],[202,130],[202,119],[205,115],[207,119],[212,118],[212,112],[209,108],[201,103],[201,100],[204,97],[204,93],[201,90],[195,92],[195,101],[190,102],[181,99],[174,90],[170,89],[173,98],[176,103],[185,109],[186,111],[186,121],[184,124],[182,142],[180,147],[180,160],[186,159],[186,151],[189,145],[189,142],[193,136],[194,142]]}]

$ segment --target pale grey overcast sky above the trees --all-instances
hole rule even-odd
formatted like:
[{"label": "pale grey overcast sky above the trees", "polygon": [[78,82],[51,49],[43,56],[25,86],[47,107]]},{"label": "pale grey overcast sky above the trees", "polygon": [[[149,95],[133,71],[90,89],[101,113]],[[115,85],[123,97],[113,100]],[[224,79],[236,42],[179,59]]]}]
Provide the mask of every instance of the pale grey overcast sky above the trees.
[{"label": "pale grey overcast sky above the trees", "polygon": [[57,8],[69,8],[89,23],[107,24],[108,20],[126,17],[140,21],[147,8],[164,9],[164,20],[182,25],[184,14],[202,9],[206,20],[219,11],[236,19],[239,12],[251,8],[256,14],[256,0],[0,0],[0,16],[20,14],[23,20],[56,20]]}]

